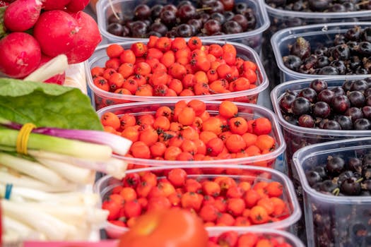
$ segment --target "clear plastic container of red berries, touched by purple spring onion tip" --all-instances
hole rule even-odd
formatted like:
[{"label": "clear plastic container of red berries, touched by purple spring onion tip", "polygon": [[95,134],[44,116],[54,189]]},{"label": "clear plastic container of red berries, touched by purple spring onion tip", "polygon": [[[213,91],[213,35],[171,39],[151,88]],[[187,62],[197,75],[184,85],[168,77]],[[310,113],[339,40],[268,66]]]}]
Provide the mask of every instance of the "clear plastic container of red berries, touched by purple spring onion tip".
[{"label": "clear plastic container of red berries, touched by purple spring onion tip", "polygon": [[[110,107],[105,107],[100,109],[97,114],[102,116],[105,112],[113,112],[117,115],[122,114],[134,114],[138,116],[141,114],[154,114],[155,111],[162,106],[174,107],[177,101],[172,102],[139,102],[139,103],[129,103],[129,104],[117,104]],[[220,102],[218,101],[205,101],[206,110],[211,115],[216,115],[218,112],[218,107]],[[271,110],[264,107],[260,107],[257,104],[247,104],[235,102],[238,107],[238,116],[245,119],[257,119],[259,117],[266,117],[272,123],[272,131],[270,135],[276,140],[276,149],[264,155],[257,155],[252,157],[242,157],[236,159],[216,159],[209,161],[192,161],[194,165],[201,164],[211,164],[211,165],[223,165],[223,164],[248,164],[275,168],[276,166],[282,167],[283,164],[276,164],[277,162],[283,162],[283,159],[277,159],[283,155],[285,151],[285,141],[283,140],[283,135],[281,133],[280,126],[278,124],[278,119],[276,115],[271,112]],[[135,164],[138,167],[142,166],[167,166],[172,164],[181,165],[184,164],[183,161],[170,161],[170,160],[157,160],[157,159],[139,159],[134,157],[119,157],[124,159],[129,164]]]}]

